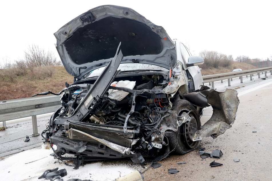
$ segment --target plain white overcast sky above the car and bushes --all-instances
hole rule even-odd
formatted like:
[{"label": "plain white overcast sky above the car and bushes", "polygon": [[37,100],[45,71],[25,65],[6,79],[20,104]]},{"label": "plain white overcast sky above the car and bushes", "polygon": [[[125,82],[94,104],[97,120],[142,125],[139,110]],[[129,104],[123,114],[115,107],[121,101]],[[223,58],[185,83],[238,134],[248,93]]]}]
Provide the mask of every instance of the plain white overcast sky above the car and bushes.
[{"label": "plain white overcast sky above the car and bushes", "polygon": [[[272,3],[269,1],[5,1],[0,6],[0,61],[20,59],[29,44],[58,57],[53,33],[78,15],[100,5],[129,7],[194,55],[202,50],[271,59]],[[59,59],[59,57],[58,57]]]}]

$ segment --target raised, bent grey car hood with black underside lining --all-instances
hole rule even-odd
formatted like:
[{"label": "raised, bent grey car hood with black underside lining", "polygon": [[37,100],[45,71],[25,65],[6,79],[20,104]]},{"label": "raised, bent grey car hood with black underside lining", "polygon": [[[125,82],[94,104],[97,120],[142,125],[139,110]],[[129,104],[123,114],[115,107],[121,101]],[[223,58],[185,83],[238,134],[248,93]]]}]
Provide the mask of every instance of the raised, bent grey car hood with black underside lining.
[{"label": "raised, bent grey car hood with black underside lining", "polygon": [[176,64],[176,49],[164,28],[126,7],[96,7],[54,35],[66,71],[77,79],[108,65],[120,42],[124,55],[121,63],[145,63],[166,69]]}]

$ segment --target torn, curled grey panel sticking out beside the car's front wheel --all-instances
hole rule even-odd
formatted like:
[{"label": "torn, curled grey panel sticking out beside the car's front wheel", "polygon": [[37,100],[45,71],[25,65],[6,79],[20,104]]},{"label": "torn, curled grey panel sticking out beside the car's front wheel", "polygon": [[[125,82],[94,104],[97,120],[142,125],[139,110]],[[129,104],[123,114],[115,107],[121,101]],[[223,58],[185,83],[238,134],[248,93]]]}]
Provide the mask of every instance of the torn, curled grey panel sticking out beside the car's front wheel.
[{"label": "torn, curled grey panel sticking out beside the car's front wheel", "polygon": [[237,91],[231,89],[227,89],[225,92],[212,91],[206,95],[208,104],[213,107],[213,115],[195,133],[193,141],[202,140],[203,137],[209,136],[216,138],[231,128],[239,105],[237,95]]}]

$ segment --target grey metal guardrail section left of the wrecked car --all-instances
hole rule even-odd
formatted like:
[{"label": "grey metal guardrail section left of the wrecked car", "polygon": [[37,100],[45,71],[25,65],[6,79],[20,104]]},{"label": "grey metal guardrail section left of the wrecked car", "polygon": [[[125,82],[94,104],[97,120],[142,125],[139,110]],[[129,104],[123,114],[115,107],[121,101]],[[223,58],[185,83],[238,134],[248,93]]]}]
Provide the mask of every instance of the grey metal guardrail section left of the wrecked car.
[{"label": "grey metal guardrail section left of the wrecked car", "polygon": [[36,115],[55,112],[61,106],[60,98],[61,96],[47,95],[3,100],[0,102],[0,122],[6,127],[7,120],[32,116],[32,136],[38,136]]}]

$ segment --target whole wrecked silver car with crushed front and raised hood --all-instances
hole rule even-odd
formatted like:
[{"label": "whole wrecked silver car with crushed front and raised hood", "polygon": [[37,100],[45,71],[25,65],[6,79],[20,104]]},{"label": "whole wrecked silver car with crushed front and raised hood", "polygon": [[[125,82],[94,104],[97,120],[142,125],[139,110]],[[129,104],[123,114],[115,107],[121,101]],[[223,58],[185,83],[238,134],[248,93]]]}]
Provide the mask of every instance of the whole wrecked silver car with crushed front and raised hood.
[{"label": "whole wrecked silver car with crushed front and raised hood", "polygon": [[[59,92],[62,106],[43,137],[57,145],[55,158],[74,160],[75,168],[84,160],[185,154],[235,120],[237,92],[203,86],[203,59],[130,8],[96,7],[54,35],[74,83]],[[213,116],[201,126],[210,105]]]}]

